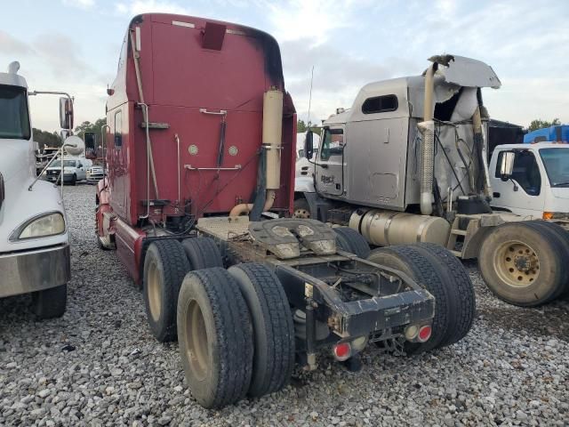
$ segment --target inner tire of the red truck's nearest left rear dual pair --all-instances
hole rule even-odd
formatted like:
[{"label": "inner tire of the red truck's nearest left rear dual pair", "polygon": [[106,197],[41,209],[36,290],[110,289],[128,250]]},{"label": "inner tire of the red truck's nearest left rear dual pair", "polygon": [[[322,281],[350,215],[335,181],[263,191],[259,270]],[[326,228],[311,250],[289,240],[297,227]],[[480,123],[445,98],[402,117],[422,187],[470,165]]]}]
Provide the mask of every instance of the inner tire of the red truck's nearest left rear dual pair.
[{"label": "inner tire of the red truck's nearest left rear dual pair", "polygon": [[252,380],[248,394],[260,397],[281,390],[294,367],[293,315],[283,286],[258,262],[229,268],[251,313],[254,336]]}]

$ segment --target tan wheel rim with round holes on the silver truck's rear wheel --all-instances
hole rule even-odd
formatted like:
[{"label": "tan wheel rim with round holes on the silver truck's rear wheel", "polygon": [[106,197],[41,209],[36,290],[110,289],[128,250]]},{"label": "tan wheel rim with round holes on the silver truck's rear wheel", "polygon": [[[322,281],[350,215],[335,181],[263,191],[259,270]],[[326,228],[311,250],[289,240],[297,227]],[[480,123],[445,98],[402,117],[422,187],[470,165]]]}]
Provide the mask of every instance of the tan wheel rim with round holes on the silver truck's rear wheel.
[{"label": "tan wheel rim with round holes on the silver truck's rear wheel", "polygon": [[540,260],[531,246],[519,241],[503,243],[494,257],[494,270],[512,287],[527,287],[540,274]]}]

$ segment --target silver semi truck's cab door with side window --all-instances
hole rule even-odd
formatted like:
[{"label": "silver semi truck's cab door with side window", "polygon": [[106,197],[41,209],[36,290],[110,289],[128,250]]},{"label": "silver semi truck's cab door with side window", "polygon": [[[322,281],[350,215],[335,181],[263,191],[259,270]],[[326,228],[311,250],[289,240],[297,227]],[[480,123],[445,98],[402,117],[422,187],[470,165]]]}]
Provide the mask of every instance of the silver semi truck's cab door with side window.
[{"label": "silver semi truck's cab door with side window", "polygon": [[341,196],[344,192],[344,129],[325,127],[318,150],[316,185],[319,192]]}]

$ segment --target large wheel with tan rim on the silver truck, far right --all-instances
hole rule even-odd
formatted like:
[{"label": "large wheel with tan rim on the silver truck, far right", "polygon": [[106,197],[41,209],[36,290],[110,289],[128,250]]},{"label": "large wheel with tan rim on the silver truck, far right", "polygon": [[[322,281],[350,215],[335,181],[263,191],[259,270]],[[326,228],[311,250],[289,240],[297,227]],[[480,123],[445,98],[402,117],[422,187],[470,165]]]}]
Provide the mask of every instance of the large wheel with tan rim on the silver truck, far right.
[{"label": "large wheel with tan rim on the silver truck, far right", "polygon": [[565,289],[565,246],[542,227],[537,222],[509,222],[491,230],[482,242],[478,268],[486,286],[501,300],[536,307]]}]

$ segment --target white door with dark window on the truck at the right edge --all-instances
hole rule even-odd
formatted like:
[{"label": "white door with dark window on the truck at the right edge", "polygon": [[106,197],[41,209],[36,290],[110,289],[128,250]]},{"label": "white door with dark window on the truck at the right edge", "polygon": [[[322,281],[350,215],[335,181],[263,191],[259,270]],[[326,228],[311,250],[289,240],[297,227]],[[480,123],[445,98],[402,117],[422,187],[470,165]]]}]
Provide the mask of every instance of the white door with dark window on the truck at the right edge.
[{"label": "white door with dark window on the truck at the right edge", "polygon": [[508,209],[514,214],[532,215],[541,218],[545,203],[545,192],[541,169],[533,152],[529,149],[514,150],[514,170],[511,180],[502,181],[500,166],[501,157],[507,150],[497,155],[493,171],[494,207]]}]

